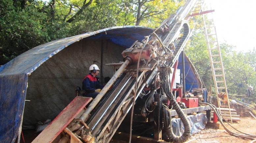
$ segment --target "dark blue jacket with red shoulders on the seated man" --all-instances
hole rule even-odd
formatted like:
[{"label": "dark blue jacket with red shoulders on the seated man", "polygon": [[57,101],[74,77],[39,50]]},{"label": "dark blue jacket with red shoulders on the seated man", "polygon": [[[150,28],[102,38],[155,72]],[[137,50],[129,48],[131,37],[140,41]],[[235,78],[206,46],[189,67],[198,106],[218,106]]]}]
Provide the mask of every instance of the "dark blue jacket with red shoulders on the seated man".
[{"label": "dark blue jacket with red shoulders on the seated man", "polygon": [[[95,92],[95,89],[102,89],[98,79],[93,77],[91,73],[84,77],[82,89],[88,92]],[[86,94],[85,93],[85,94]]]}]

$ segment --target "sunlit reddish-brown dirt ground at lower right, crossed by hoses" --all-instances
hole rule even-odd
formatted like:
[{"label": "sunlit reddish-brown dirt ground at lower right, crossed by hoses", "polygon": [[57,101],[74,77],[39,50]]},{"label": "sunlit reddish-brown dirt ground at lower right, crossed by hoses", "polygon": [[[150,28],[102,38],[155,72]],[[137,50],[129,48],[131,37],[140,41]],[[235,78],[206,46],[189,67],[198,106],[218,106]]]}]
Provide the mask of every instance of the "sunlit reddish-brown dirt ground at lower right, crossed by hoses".
[{"label": "sunlit reddish-brown dirt ground at lower right, crossed by hoses", "polygon": [[[246,134],[256,134],[256,119],[252,117],[240,117],[241,121],[233,121],[231,124],[237,130],[246,133]],[[225,126],[236,133],[238,131],[234,130],[230,127],[226,122],[224,122]],[[220,129],[216,129],[213,127],[208,127],[192,136],[189,137],[189,140],[194,139],[191,143],[249,143],[251,140],[238,138],[235,136],[231,136],[228,134],[225,129],[220,126]]]}]

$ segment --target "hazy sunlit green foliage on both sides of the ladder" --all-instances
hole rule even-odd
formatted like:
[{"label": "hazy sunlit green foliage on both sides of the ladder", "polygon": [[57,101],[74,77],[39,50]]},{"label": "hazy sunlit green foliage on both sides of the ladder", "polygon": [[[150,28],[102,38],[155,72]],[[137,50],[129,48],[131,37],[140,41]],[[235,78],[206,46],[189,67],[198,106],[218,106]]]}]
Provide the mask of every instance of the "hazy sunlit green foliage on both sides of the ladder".
[{"label": "hazy sunlit green foliage on both sides of the ladder", "polygon": [[[193,19],[195,21],[195,19]],[[197,72],[202,77],[202,80],[207,89],[212,85],[212,93],[214,94],[214,84],[212,79],[212,71],[210,58],[207,50],[204,29],[202,27],[202,18],[199,17],[198,23],[195,25],[195,30],[191,36],[185,52],[191,62],[195,65]],[[194,27],[193,22],[190,25]],[[208,32],[211,32],[210,30]],[[213,37],[214,38],[214,37]],[[211,39],[210,41],[214,41]],[[213,46],[213,45],[212,45]],[[224,74],[229,94],[246,95],[246,89],[251,84],[255,87],[256,84],[256,51],[255,49],[247,52],[236,52],[233,45],[226,43],[220,44],[222,62],[224,66]],[[214,55],[214,53],[212,53]],[[233,96],[232,98],[236,98]],[[256,101],[255,95],[250,98],[246,97],[246,101]]]}]

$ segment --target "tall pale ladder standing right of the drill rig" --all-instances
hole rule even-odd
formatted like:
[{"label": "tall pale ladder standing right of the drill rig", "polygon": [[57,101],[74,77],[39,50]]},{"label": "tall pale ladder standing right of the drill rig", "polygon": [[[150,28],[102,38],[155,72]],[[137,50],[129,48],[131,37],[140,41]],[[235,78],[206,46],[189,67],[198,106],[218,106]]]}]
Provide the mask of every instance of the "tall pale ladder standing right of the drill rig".
[{"label": "tall pale ladder standing right of the drill rig", "polygon": [[225,92],[227,95],[227,99],[222,101],[227,102],[228,104],[230,120],[232,123],[227,84],[226,84],[225,74],[224,74],[224,67],[222,63],[221,51],[218,43],[216,27],[214,25],[212,12],[208,14],[204,14],[203,21],[204,21],[205,38],[207,42],[208,53],[209,53],[209,58],[210,58],[210,63],[212,68],[213,81],[214,81],[214,86],[215,86],[215,91],[216,91],[216,96],[218,101],[218,108],[220,111],[221,99],[218,97],[218,94],[220,92]]}]

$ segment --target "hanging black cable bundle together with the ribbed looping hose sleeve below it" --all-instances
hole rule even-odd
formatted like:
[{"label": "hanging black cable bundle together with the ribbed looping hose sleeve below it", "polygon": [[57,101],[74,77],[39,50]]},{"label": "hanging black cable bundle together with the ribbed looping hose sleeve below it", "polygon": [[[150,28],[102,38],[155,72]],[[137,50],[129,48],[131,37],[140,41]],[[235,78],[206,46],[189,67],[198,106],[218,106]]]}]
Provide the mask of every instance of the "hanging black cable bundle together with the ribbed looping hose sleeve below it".
[{"label": "hanging black cable bundle together with the ribbed looping hose sleeve below it", "polygon": [[[159,76],[161,79],[161,85],[162,88],[165,92],[165,94],[167,95],[167,98],[170,100],[170,103],[173,106],[173,109],[176,110],[177,114],[180,116],[182,123],[184,124],[184,133],[181,136],[176,136],[173,131],[172,131],[172,124],[171,124],[171,113],[167,107],[167,109],[165,111],[168,110],[168,116],[164,115],[164,124],[166,127],[166,134],[168,137],[168,141],[173,141],[173,142],[178,142],[178,143],[182,143],[184,141],[186,141],[188,139],[188,137],[190,136],[190,132],[191,132],[191,128],[190,128],[190,124],[188,122],[187,117],[185,116],[184,112],[181,110],[181,107],[179,106],[179,104],[177,103],[177,101],[174,99],[172,91],[170,89],[170,84],[171,84],[171,68],[170,67],[160,67],[159,69]],[[164,112],[166,113],[166,112]],[[166,121],[166,120],[169,120]]]}]

